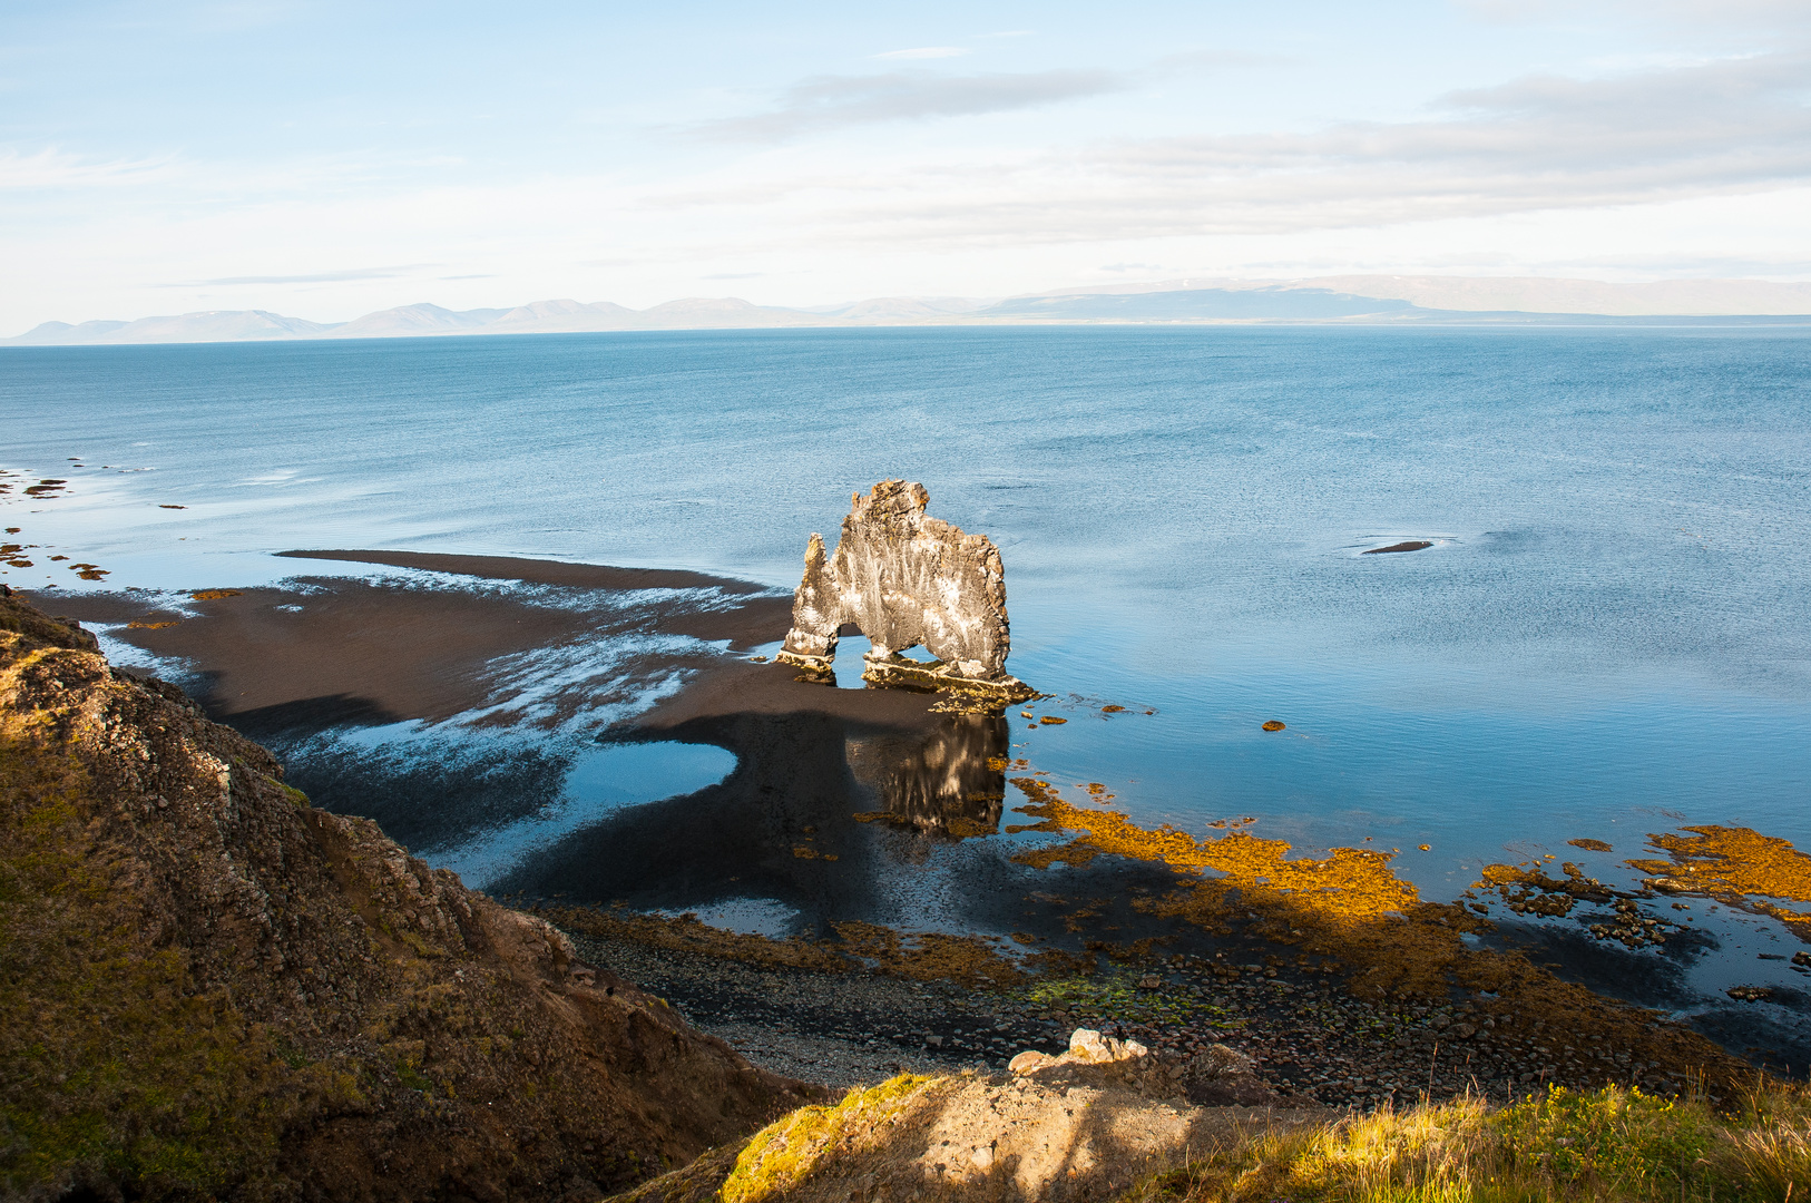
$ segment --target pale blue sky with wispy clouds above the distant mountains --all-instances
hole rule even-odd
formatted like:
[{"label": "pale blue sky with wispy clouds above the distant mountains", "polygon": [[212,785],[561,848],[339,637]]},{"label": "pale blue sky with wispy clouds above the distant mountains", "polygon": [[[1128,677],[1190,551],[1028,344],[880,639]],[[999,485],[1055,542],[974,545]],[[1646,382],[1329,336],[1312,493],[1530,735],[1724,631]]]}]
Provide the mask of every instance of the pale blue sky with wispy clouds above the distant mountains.
[{"label": "pale blue sky with wispy clouds above the distant mountains", "polygon": [[40,321],[1811,279],[1811,0],[0,0]]}]

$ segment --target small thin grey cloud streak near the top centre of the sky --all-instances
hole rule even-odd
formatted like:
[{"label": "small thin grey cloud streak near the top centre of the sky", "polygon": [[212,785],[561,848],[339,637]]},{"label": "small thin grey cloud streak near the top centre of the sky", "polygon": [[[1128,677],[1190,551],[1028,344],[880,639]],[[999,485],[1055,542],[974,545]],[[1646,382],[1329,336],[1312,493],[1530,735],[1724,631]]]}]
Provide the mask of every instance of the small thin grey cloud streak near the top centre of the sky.
[{"label": "small thin grey cloud streak near the top centre of the sky", "polygon": [[900,71],[867,76],[811,76],[779,94],[779,107],[694,127],[714,141],[786,141],[800,134],[924,118],[978,116],[1101,96],[1126,87],[1112,71],[1036,71],[947,76]]}]

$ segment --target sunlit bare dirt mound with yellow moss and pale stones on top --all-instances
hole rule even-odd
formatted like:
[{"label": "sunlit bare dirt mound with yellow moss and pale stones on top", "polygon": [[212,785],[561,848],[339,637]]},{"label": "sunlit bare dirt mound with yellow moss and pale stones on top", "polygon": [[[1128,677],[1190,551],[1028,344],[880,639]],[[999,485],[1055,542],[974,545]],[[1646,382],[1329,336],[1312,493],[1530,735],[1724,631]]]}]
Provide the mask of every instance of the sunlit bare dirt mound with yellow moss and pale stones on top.
[{"label": "sunlit bare dirt mound with yellow moss and pale stones on top", "polygon": [[1331,1114],[1279,1098],[1224,1047],[1184,1062],[1078,1031],[1063,1056],[1030,1053],[1014,1067],[991,1078],[904,1074],[849,1091],[835,1107],[802,1107],[741,1149],[715,1150],[616,1203],[1079,1203]]}]

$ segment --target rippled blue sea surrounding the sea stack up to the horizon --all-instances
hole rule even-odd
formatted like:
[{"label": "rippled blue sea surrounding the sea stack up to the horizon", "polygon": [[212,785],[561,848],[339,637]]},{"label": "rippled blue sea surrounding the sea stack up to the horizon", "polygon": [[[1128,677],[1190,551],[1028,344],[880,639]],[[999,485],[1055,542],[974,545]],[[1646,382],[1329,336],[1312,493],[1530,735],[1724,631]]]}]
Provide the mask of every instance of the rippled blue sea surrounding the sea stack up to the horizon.
[{"label": "rippled blue sea surrounding the sea stack up to the horizon", "polygon": [[[9,348],[0,467],[69,480],[5,525],[158,589],[277,580],[292,547],[791,589],[806,536],[904,476],[1000,544],[1009,667],[1070,719],[1016,719],[1014,754],[1139,823],[1400,848],[1429,897],[1543,853],[1628,879],[1693,823],[1811,848],[1804,330]],[[1400,540],[1433,547],[1362,554]]]}]

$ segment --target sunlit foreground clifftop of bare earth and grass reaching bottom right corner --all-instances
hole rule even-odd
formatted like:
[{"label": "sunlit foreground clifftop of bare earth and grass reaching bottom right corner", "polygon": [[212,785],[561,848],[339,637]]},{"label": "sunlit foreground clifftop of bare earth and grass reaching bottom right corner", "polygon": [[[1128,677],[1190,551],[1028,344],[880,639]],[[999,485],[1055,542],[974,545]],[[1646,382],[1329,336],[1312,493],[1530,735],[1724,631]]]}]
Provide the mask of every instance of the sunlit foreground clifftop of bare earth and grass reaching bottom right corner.
[{"label": "sunlit foreground clifftop of bare earth and grass reaching bottom right corner", "polygon": [[896,1078],[618,1203],[1789,1203],[1807,1187],[1811,1102],[1778,1083],[1733,1111],[1612,1085],[1317,1116]]}]

